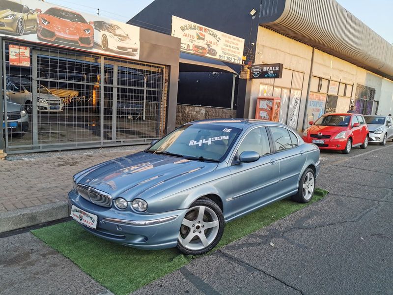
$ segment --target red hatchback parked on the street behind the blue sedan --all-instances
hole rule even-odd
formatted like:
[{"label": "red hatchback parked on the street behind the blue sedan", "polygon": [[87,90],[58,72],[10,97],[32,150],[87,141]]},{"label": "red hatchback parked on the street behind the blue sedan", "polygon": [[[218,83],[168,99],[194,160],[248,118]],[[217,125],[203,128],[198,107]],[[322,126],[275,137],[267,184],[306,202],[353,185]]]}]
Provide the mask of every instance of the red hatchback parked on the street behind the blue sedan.
[{"label": "red hatchback parked on the street behind the blue sedan", "polygon": [[347,154],[352,148],[368,145],[368,128],[360,114],[325,114],[303,132],[303,140],[320,149],[336,149]]}]

